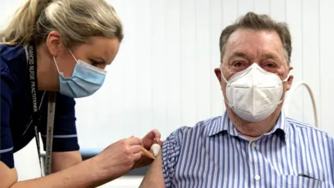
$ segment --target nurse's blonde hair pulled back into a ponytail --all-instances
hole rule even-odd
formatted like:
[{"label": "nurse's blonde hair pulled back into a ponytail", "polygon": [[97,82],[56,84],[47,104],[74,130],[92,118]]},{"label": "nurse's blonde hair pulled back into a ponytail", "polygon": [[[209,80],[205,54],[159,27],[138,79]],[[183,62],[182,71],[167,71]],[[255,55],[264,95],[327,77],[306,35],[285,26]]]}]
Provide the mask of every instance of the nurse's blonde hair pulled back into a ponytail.
[{"label": "nurse's blonde hair pulled back into a ponytail", "polygon": [[40,45],[51,31],[58,31],[67,47],[86,43],[90,36],[123,38],[122,23],[104,0],[28,0],[0,31],[0,44]]}]

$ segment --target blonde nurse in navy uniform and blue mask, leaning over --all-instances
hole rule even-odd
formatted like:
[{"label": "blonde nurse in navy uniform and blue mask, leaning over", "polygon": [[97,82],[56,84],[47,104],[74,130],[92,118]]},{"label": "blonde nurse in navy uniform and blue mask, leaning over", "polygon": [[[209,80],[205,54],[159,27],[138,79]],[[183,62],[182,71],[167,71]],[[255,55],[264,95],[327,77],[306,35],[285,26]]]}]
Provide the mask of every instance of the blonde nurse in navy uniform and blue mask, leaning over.
[{"label": "blonde nurse in navy uniform and blue mask, leaning over", "polygon": [[[156,130],[81,162],[74,98],[102,86],[122,38],[120,19],[104,0],[29,0],[15,13],[0,32],[0,187],[97,187],[152,162],[141,146],[161,144]],[[17,182],[13,153],[35,137],[40,155],[38,134],[51,174]]]}]

